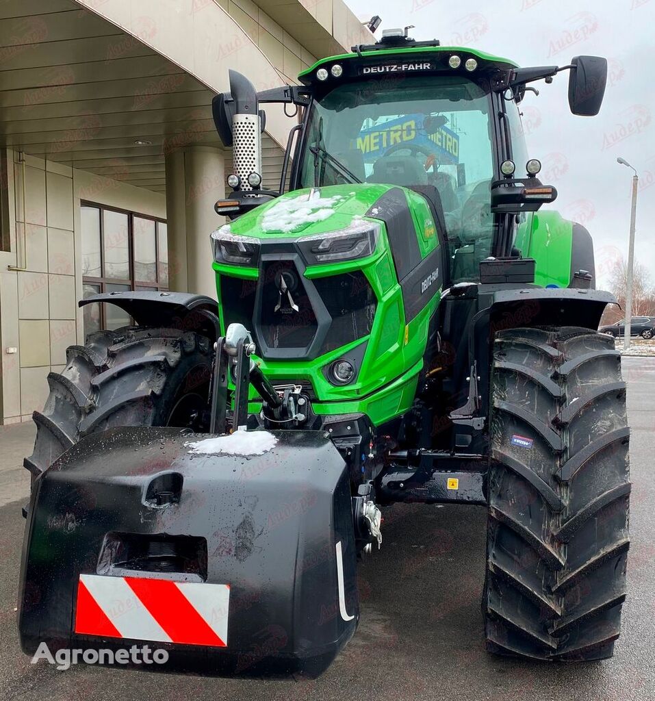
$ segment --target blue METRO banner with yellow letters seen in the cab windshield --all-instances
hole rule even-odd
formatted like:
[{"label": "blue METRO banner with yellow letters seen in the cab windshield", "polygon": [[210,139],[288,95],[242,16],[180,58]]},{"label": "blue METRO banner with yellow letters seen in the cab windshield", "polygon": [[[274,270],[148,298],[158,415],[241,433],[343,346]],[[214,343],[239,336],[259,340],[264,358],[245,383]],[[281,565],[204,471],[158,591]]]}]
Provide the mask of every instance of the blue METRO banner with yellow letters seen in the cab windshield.
[{"label": "blue METRO banner with yellow letters seen in the cab windshield", "polygon": [[364,154],[365,163],[373,163],[392,146],[420,146],[438,156],[439,163],[455,165],[460,162],[460,137],[448,127],[434,134],[422,128],[424,117],[408,114],[359,132],[353,147]]}]

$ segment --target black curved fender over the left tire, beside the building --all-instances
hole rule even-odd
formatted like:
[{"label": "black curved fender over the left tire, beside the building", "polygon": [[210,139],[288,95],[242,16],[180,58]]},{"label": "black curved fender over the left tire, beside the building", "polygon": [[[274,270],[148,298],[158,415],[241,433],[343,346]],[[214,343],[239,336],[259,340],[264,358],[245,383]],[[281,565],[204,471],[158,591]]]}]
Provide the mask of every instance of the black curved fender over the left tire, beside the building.
[{"label": "black curved fender over the left tire, beside the building", "polygon": [[190,292],[131,291],[104,292],[81,299],[86,304],[115,304],[139,326],[163,326],[195,331],[212,340],[221,334],[219,304],[204,294]]}]

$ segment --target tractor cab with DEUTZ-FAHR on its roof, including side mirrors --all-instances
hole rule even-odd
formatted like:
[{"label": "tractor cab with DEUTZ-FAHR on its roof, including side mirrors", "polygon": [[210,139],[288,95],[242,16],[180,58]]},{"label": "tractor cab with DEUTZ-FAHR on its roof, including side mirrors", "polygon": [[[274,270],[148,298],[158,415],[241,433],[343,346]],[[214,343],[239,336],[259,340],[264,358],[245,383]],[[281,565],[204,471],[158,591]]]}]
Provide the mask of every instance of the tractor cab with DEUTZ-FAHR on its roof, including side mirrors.
[{"label": "tractor cab with DEUTZ-FAHR on its roof, including side mirrors", "polygon": [[[525,213],[557,196],[537,179],[539,161],[528,158],[520,102],[526,90],[537,92],[526,83],[551,82],[563,69],[571,71],[574,114],[597,114],[605,59],[585,56],[566,67],[522,69],[478,50],[418,42],[391,29],[378,43],[320,60],[299,76],[302,86],[256,94],[243,76],[230,72],[232,93],[215,98],[214,119],[223,142],[256,153],[257,147],[240,148],[244,130],[233,123],[249,118],[263,128],[266,115],[258,104],[296,104],[298,125],[287,144],[280,193],[290,161],[291,190],[371,183],[418,191],[448,240],[448,282],[478,280],[481,261],[516,257]],[[249,170],[258,167],[255,159],[247,164],[247,158],[235,158],[228,179],[234,192],[219,200],[217,212],[239,215],[279,194],[251,186],[261,182]]]}]

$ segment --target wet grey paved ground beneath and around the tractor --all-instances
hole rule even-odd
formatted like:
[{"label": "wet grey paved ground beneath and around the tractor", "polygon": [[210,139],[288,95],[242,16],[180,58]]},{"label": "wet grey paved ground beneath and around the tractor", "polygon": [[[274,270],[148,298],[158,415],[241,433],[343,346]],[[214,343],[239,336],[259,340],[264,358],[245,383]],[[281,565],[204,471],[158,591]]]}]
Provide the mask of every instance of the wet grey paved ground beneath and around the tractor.
[{"label": "wet grey paved ground beneath and around the tractor", "polygon": [[[30,665],[15,631],[22,501],[0,508],[0,699],[10,701],[314,701],[423,699],[647,701],[655,699],[655,359],[626,358],[632,457],[630,592],[616,656],[588,665],[495,658],[483,648],[482,508],[422,507],[387,519],[385,543],[361,568],[363,611],[343,655],[316,681],[254,682]],[[0,429],[0,495],[29,428]],[[21,447],[22,446],[22,447]],[[390,515],[389,515],[390,516]]]}]

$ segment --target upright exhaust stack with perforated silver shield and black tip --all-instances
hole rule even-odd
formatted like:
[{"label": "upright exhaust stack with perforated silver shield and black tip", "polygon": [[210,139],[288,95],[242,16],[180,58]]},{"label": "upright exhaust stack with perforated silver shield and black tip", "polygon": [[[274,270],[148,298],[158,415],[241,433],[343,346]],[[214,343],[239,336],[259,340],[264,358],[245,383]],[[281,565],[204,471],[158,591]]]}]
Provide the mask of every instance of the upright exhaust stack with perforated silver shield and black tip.
[{"label": "upright exhaust stack with perforated silver shield and black tip", "polygon": [[233,168],[242,190],[252,190],[248,176],[261,175],[261,115],[257,92],[242,74],[230,70],[230,93],[234,100],[232,117]]}]

